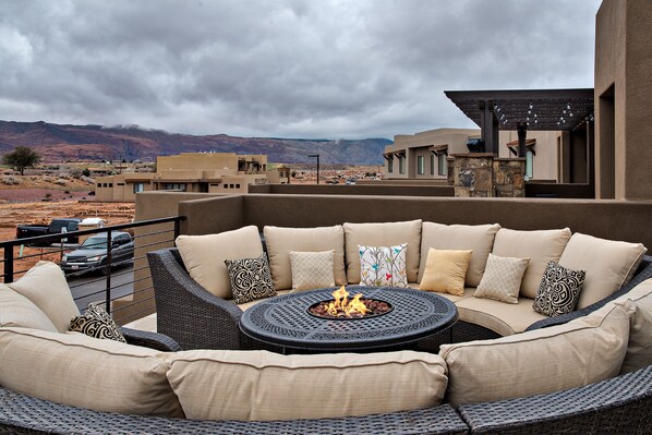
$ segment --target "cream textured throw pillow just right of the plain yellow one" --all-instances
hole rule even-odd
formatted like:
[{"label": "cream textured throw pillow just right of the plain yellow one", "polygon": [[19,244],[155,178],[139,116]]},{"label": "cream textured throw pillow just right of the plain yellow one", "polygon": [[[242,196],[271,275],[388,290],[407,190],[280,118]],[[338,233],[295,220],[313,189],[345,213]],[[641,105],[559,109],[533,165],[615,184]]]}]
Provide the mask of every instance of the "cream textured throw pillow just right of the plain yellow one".
[{"label": "cream textured throw pillow just right of the plain yellow one", "polygon": [[530,263],[530,258],[502,257],[488,254],[484,275],[473,297],[518,303],[521,280],[528,268],[528,263]]}]

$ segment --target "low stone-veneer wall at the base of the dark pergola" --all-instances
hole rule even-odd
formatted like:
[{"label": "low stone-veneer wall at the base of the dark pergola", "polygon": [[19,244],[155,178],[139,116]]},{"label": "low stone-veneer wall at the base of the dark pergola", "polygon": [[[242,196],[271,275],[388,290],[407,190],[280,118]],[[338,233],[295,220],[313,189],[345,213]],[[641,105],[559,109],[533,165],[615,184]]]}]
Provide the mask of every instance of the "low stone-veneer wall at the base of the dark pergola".
[{"label": "low stone-veneer wall at the base of the dark pergola", "polygon": [[524,158],[496,158],[493,153],[454,154],[451,157],[455,196],[526,196]]}]

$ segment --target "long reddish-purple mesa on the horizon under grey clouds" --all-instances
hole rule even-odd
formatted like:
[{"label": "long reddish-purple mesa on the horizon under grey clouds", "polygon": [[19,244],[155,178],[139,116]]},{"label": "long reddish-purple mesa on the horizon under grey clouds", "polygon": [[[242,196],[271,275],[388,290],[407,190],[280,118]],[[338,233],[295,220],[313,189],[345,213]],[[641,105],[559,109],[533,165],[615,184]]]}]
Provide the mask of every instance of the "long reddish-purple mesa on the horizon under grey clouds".
[{"label": "long reddish-purple mesa on the horizon under grey clouds", "polygon": [[180,153],[266,154],[270,162],[312,162],[319,154],[323,164],[383,165],[383,153],[393,142],[386,138],[304,140],[282,137],[237,137],[226,134],[194,136],[129,125],[61,125],[39,122],[0,121],[0,153],[16,146],[36,149],[46,161],[156,160]]}]

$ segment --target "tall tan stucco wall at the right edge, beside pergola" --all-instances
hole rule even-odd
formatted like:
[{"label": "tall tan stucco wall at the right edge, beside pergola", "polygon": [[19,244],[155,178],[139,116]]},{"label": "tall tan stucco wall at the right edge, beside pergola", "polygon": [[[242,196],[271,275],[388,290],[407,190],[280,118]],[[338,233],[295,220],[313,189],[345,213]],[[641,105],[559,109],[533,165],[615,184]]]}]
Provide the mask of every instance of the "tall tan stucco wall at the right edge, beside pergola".
[{"label": "tall tan stucco wall at the right edge, beside pergola", "polygon": [[[597,197],[652,198],[652,2],[604,0],[595,19]],[[613,89],[613,98],[611,90]],[[608,98],[602,99],[609,93]],[[611,104],[613,101],[613,105]]]}]

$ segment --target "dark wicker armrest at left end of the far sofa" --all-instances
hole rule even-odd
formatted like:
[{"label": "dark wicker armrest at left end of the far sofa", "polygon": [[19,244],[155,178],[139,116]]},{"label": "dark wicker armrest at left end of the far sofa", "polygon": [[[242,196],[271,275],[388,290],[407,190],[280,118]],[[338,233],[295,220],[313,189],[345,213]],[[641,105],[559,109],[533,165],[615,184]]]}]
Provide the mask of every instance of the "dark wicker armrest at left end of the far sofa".
[{"label": "dark wicker armrest at left end of the far sofa", "polygon": [[190,277],[176,249],[147,253],[156,299],[157,330],[183,349],[243,349],[242,310]]}]

